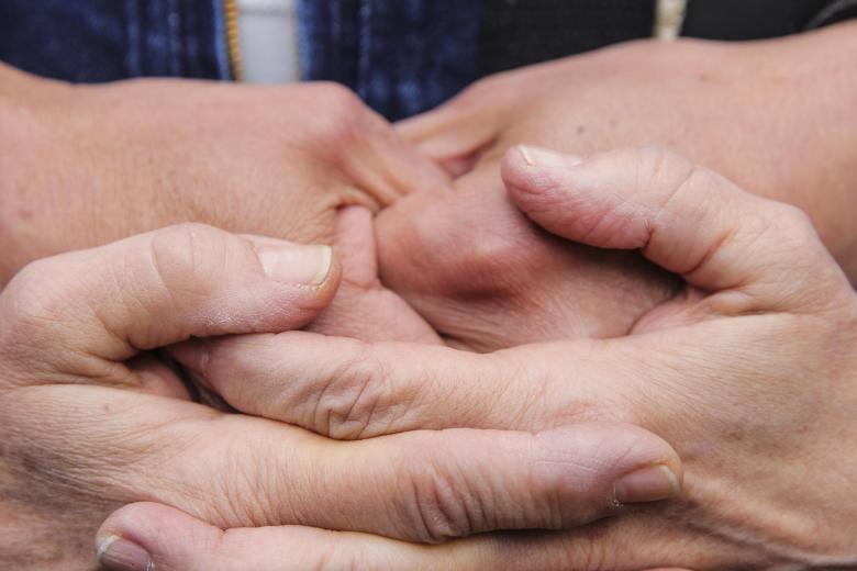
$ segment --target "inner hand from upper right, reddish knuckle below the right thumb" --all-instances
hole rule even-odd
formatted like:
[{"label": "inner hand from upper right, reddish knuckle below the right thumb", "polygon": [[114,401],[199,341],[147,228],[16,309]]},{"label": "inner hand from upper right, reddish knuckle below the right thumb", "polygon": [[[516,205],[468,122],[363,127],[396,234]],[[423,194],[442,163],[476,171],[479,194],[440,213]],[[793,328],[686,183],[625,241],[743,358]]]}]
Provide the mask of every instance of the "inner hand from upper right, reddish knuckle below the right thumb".
[{"label": "inner hand from upper right, reddish knuckle below the right thumb", "polygon": [[857,23],[770,42],[635,42],[470,87],[399,126],[457,176],[378,220],[382,280],[458,346],[611,337],[670,295],[636,256],[563,248],[517,215],[503,154],[660,145],[810,214],[857,283]]}]

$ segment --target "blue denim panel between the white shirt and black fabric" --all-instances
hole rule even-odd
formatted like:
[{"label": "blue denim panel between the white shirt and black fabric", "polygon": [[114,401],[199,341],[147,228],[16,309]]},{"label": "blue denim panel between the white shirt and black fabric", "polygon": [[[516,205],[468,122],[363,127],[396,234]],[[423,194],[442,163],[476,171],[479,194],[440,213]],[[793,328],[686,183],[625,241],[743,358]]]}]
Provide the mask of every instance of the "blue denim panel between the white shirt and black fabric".
[{"label": "blue denim panel between the white shirt and black fabric", "polygon": [[481,0],[300,0],[303,79],[350,87],[396,120],[477,78]]}]

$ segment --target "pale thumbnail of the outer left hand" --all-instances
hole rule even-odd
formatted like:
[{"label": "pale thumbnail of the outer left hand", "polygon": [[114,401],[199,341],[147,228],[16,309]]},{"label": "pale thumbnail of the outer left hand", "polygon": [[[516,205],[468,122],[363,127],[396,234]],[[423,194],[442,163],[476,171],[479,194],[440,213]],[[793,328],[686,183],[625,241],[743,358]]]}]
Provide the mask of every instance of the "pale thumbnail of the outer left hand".
[{"label": "pale thumbnail of the outer left hand", "polygon": [[319,286],[331,271],[333,253],[330,246],[256,247],[261,268],[268,278],[296,286]]}]

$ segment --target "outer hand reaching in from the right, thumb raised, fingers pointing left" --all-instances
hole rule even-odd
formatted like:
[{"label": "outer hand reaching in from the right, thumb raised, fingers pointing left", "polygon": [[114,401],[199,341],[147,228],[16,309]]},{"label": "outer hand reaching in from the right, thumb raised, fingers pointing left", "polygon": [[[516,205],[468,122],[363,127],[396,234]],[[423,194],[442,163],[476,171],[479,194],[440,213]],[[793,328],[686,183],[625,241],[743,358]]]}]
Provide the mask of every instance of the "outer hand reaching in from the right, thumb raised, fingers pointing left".
[{"label": "outer hand reaching in from the right, thumb raised, fingers pointing left", "polygon": [[[234,406],[338,437],[639,424],[681,455],[680,499],[625,506],[581,530],[431,549],[296,528],[224,534],[143,504],[112,516],[102,545],[133,538],[162,570],[857,566],[847,497],[857,482],[857,295],[809,219],[659,150],[513,150],[503,175],[546,229],[637,249],[680,276],[683,291],[619,339],[475,355],[285,333],[185,344],[177,355]],[[650,490],[667,481],[658,470],[639,475]],[[459,520],[481,523],[478,513]]]}]

